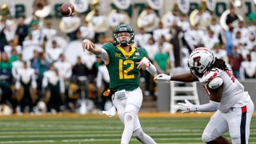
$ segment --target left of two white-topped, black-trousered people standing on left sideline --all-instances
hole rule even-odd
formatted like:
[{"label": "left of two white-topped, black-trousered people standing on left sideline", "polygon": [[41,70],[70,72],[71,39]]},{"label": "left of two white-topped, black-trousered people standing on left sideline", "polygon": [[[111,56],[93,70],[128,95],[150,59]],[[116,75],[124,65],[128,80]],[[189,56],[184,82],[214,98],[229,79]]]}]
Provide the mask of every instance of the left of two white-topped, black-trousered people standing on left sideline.
[{"label": "left of two white-topped, black-trousered people standing on left sideline", "polygon": [[37,82],[34,69],[30,68],[26,62],[18,70],[18,77],[15,83],[15,89],[20,91],[22,99],[19,101],[21,113],[25,112],[25,107],[29,106],[29,112],[33,112],[33,107],[37,99]]}]

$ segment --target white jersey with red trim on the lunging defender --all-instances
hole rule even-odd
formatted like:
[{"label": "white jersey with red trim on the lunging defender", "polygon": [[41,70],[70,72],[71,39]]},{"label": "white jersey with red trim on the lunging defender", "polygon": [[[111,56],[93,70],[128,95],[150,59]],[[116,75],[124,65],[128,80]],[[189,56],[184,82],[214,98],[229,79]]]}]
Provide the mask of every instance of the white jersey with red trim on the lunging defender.
[{"label": "white jersey with red trim on the lunging defender", "polygon": [[[220,111],[226,113],[231,107],[245,106],[249,102],[250,96],[248,92],[244,91],[244,86],[238,82],[238,79],[229,70],[214,68],[206,71],[202,78],[198,78],[208,94],[207,86],[214,78],[222,78],[221,82],[223,83],[222,99],[218,108]],[[218,82],[215,83],[216,86],[213,87],[218,88],[220,85]]]}]

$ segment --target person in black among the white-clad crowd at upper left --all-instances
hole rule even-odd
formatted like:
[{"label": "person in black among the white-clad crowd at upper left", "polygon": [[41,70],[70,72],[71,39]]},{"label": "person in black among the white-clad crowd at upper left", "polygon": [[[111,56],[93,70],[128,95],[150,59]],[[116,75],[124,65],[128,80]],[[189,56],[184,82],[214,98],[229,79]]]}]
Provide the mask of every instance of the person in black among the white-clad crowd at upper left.
[{"label": "person in black among the white-clad crowd at upper left", "polygon": [[28,26],[24,23],[23,17],[18,18],[18,26],[16,29],[16,34],[18,36],[18,45],[22,46],[23,41],[25,40],[27,34],[29,34]]}]

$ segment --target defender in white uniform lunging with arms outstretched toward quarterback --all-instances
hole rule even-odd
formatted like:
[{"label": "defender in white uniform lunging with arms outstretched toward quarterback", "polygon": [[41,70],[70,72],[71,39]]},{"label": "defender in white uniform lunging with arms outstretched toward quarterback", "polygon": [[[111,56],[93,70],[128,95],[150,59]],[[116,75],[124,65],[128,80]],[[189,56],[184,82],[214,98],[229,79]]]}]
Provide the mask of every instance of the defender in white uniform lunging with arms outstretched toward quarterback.
[{"label": "defender in white uniform lunging with arms outstretched toward quarterback", "polygon": [[194,105],[185,100],[186,103],[179,105],[182,112],[216,111],[203,131],[203,142],[231,143],[230,140],[222,137],[222,134],[230,131],[233,144],[248,143],[254,103],[242,84],[228,70],[226,63],[215,58],[209,49],[200,47],[190,54],[188,66],[191,73],[170,76],[158,74],[154,79],[202,83],[209,94],[209,103]]}]

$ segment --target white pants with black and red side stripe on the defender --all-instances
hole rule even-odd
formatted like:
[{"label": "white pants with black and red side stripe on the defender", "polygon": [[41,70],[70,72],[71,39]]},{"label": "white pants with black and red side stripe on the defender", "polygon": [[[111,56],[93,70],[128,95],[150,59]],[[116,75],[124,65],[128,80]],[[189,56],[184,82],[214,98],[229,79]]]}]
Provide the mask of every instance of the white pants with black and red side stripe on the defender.
[{"label": "white pants with black and red side stripe on the defender", "polygon": [[210,142],[230,131],[233,144],[247,144],[250,135],[250,120],[254,113],[254,103],[231,108],[227,113],[219,110],[210,118],[202,134],[203,142]]}]

